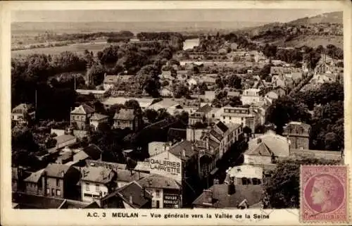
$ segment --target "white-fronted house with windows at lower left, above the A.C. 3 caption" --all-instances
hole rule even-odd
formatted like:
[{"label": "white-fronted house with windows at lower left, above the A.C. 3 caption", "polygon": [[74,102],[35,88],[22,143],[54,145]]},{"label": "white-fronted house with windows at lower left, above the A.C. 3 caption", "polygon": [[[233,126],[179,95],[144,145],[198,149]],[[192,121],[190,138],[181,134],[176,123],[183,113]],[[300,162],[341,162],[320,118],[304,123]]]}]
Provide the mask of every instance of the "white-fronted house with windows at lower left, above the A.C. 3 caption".
[{"label": "white-fronted house with windows at lower left, above the A.C. 3 caption", "polygon": [[82,201],[94,201],[110,194],[117,187],[117,174],[114,170],[101,166],[89,166],[81,168],[81,199]]}]

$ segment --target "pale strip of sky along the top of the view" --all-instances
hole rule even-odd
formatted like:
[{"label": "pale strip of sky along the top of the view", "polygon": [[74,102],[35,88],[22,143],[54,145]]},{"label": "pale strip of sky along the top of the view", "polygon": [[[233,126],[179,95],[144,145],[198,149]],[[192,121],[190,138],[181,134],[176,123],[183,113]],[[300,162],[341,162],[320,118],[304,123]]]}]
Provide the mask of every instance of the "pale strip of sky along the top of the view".
[{"label": "pale strip of sky along the top of the view", "polygon": [[[334,10],[331,10],[334,11]],[[249,21],[289,22],[331,12],[327,9],[175,9],[175,10],[71,10],[12,11],[12,22],[158,22]]]}]

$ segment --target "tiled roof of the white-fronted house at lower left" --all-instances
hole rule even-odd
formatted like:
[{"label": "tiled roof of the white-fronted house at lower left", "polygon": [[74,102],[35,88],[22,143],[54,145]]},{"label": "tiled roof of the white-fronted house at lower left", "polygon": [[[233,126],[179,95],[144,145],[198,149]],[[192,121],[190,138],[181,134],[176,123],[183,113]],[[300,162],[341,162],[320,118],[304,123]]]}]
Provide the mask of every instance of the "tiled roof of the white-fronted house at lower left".
[{"label": "tiled roof of the white-fronted house at lower left", "polygon": [[113,180],[115,172],[102,166],[89,166],[82,168],[82,181],[96,182],[106,184]]}]

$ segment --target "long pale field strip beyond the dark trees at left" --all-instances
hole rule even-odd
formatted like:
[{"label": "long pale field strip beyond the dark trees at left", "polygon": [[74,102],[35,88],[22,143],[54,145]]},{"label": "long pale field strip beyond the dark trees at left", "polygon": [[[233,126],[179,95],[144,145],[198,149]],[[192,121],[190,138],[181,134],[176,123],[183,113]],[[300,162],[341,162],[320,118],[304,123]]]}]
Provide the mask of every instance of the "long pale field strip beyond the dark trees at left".
[{"label": "long pale field strip beyond the dark trees at left", "polygon": [[82,54],[84,49],[88,51],[92,51],[94,54],[98,51],[102,51],[107,46],[110,46],[108,43],[84,43],[84,44],[72,44],[69,46],[56,46],[56,47],[48,47],[48,48],[38,48],[38,49],[23,49],[23,50],[15,50],[11,51],[11,57],[21,57],[27,56],[29,54],[60,54],[63,51],[72,51],[77,54]]}]

